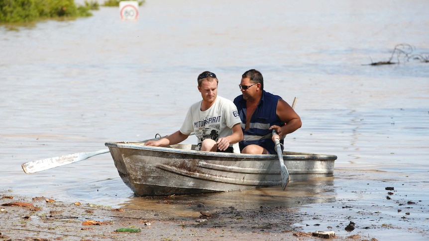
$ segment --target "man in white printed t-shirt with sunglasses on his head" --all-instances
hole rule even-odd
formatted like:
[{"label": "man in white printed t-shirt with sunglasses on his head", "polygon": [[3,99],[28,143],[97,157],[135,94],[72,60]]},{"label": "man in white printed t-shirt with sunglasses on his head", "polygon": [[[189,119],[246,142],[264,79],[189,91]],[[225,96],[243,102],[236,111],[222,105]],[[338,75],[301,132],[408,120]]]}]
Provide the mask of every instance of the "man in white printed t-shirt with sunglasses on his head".
[{"label": "man in white printed t-shirt with sunglasses on his head", "polygon": [[198,90],[203,100],[193,104],[179,131],[146,146],[168,146],[183,142],[191,132],[198,138],[198,150],[240,153],[238,142],[243,139],[241,119],[235,104],[217,96],[216,75],[205,71],[198,76]]}]

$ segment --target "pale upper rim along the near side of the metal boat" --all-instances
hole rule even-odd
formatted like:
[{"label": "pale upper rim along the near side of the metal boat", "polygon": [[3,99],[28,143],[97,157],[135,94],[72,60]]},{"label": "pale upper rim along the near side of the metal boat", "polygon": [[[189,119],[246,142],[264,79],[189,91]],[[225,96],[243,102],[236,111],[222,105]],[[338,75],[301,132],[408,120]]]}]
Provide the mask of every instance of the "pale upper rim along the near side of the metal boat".
[{"label": "pale upper rim along the near side of the metal boat", "polygon": [[[185,150],[178,149],[173,147],[151,147],[143,146],[142,143],[132,142],[107,142],[105,143],[106,147],[111,148],[127,148],[127,149],[136,149],[136,150],[146,150],[146,151],[155,151],[155,152],[167,152],[167,153],[177,153],[177,154],[187,154],[187,155],[199,155],[199,156],[209,156],[209,157],[225,157],[225,158],[244,158],[244,159],[277,159],[277,155],[266,155],[266,154],[238,154],[238,153],[221,153],[221,152],[203,152],[197,150]],[[179,144],[180,145],[180,144]],[[185,144],[186,145],[186,144]],[[300,159],[300,160],[336,160],[337,156],[335,155],[325,155],[325,154],[313,154],[313,153],[299,153],[299,152],[283,152],[283,158],[288,159]],[[286,161],[285,160],[285,161]]]}]

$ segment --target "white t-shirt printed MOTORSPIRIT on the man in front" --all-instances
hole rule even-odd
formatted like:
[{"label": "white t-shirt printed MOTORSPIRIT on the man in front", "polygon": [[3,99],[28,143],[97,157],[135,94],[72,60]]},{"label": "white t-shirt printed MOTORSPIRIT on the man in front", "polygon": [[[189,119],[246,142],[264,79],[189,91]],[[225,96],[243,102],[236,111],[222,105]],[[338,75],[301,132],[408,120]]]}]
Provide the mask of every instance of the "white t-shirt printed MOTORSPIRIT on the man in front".
[{"label": "white t-shirt printed MOTORSPIRIT on the man in front", "polygon": [[[232,134],[231,128],[241,123],[235,104],[221,96],[216,97],[214,104],[207,110],[201,111],[203,100],[191,105],[186,114],[180,132],[185,135],[195,132],[198,138],[198,150],[205,139],[217,141],[218,138],[226,137]],[[240,153],[238,143],[229,145],[234,153]]]}]

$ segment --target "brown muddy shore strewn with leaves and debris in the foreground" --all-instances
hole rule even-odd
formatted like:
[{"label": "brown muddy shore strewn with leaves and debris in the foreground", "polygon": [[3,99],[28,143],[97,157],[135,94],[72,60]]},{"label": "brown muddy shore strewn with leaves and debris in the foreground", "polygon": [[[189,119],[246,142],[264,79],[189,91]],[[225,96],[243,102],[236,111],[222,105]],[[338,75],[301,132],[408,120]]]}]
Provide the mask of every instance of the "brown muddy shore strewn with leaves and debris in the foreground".
[{"label": "brown muddy shore strewn with leaves and debris in the foreground", "polygon": [[[313,239],[312,234],[294,230],[291,226],[300,217],[280,207],[237,210],[190,204],[190,208],[201,210],[199,217],[172,218],[159,211],[112,209],[5,194],[0,194],[0,241]],[[120,228],[140,229],[140,232],[116,232]]]}]

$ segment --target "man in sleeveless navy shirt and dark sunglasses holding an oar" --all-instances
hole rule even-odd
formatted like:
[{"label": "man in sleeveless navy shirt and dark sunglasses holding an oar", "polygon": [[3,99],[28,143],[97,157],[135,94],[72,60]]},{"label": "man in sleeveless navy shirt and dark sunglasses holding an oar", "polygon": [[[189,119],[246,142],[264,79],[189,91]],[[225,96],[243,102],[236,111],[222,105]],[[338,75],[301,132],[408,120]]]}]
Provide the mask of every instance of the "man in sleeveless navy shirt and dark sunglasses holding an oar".
[{"label": "man in sleeveless navy shirt and dark sunglasses holding an oar", "polygon": [[[242,94],[234,104],[244,133],[239,142],[241,153],[276,154],[272,130],[281,137],[292,133],[302,125],[300,116],[280,96],[264,90],[264,79],[257,70],[246,71],[239,87]],[[283,138],[280,142],[283,144]]]}]

